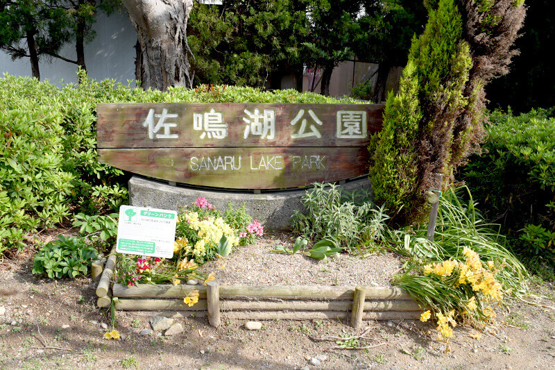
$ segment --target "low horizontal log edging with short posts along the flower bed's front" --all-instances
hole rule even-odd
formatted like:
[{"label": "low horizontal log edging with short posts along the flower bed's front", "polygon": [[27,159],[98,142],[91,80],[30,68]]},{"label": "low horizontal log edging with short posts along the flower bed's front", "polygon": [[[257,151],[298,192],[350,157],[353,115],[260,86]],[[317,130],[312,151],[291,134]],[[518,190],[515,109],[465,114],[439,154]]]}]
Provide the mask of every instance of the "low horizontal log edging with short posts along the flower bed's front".
[{"label": "low horizontal log edging with short posts along the flower bed's front", "polygon": [[[215,281],[209,284],[125,287],[114,283],[112,296],[117,298],[114,304],[117,310],[142,315],[151,312],[173,317],[207,316],[216,327],[223,316],[250,320],[350,319],[356,328],[362,320],[413,320],[419,319],[422,312],[418,303],[398,287],[219,285]],[[189,307],[183,298],[194,290],[198,290],[199,300]],[[109,299],[108,294],[99,296],[99,303],[105,304]]]}]

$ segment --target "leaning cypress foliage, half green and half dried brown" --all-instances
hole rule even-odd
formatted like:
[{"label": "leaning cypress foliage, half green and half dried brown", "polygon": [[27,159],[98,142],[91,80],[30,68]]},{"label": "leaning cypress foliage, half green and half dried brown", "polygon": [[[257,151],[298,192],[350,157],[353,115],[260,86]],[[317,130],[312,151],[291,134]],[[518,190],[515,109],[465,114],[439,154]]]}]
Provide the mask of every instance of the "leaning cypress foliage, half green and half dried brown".
[{"label": "leaning cypress foliage, half green and half dried brown", "polygon": [[428,0],[424,33],[413,38],[397,96],[373,140],[375,198],[407,224],[425,215],[434,174],[453,180],[483,132],[484,85],[506,73],[524,19],[522,0]]}]

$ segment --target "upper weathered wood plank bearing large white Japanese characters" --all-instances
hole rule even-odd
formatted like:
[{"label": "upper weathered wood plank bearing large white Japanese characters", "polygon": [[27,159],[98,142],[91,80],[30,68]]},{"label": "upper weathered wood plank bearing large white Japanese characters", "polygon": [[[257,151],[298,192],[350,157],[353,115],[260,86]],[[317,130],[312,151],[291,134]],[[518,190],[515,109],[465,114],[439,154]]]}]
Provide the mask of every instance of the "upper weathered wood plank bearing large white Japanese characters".
[{"label": "upper weathered wood plank bearing large white Japanese characters", "polygon": [[99,149],[366,146],[382,128],[384,105],[100,103],[96,111]]}]

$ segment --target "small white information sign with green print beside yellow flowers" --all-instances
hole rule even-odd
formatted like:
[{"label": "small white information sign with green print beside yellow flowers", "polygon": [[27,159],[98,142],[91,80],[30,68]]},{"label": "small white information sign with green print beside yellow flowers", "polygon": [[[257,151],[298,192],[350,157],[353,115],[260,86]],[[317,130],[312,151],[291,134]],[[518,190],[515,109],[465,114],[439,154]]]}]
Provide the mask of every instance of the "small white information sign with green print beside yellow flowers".
[{"label": "small white information sign with green print beside yellow flowers", "polygon": [[172,258],[177,220],[176,211],[122,205],[119,208],[116,251]]}]

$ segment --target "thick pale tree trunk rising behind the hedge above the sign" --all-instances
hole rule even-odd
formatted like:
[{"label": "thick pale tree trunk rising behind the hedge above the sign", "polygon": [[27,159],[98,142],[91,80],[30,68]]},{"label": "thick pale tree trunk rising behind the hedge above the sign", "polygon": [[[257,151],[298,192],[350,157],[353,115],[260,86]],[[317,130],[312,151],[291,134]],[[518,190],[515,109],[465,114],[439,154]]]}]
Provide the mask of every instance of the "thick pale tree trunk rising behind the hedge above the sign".
[{"label": "thick pale tree trunk rising behind the hedge above the sign", "polygon": [[193,0],[123,0],[137,31],[142,87],[192,87],[187,20]]}]

